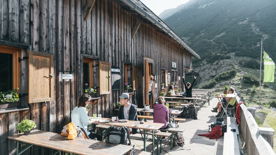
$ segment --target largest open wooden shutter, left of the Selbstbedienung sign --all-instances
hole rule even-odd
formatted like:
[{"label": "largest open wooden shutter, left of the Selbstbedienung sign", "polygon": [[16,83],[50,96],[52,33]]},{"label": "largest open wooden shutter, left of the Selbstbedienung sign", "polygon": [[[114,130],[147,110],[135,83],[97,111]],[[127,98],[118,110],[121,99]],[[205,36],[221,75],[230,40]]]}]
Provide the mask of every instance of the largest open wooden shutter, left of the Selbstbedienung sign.
[{"label": "largest open wooden shutter, left of the Selbstbedienung sign", "polygon": [[28,103],[53,101],[53,54],[34,51],[28,53]]}]

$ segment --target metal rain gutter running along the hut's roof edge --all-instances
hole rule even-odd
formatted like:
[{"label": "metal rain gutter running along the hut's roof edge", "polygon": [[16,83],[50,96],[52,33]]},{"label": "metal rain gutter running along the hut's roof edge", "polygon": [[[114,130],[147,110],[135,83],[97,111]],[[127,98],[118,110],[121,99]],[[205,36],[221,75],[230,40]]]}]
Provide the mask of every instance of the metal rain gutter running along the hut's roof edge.
[{"label": "metal rain gutter running along the hut's roof edge", "polygon": [[136,11],[139,13],[142,17],[144,17],[146,20],[150,21],[153,25],[164,31],[166,34],[168,34],[171,38],[176,40],[180,45],[182,45],[186,50],[188,50],[194,57],[201,59],[195,51],[191,49],[183,40],[177,36],[165,23],[161,23],[160,21],[156,20],[154,17],[152,17],[151,14],[147,13],[143,8],[141,8],[139,5],[137,5],[134,1],[132,0],[120,0],[123,3],[125,3],[127,6],[130,7],[131,10]]}]

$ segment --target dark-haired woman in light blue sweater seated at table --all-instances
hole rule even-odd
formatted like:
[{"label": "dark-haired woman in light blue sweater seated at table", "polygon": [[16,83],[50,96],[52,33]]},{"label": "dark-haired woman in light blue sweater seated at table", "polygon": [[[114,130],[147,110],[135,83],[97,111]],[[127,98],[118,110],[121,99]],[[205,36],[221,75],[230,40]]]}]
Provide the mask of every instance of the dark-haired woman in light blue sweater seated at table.
[{"label": "dark-haired woman in light blue sweater seated at table", "polygon": [[75,126],[83,127],[90,139],[97,138],[97,140],[102,141],[102,136],[87,131],[88,125],[94,122],[97,123],[99,121],[97,119],[89,120],[85,108],[89,103],[90,96],[88,94],[82,94],[81,97],[78,99],[78,106],[76,106],[71,113],[72,122],[75,124]]}]

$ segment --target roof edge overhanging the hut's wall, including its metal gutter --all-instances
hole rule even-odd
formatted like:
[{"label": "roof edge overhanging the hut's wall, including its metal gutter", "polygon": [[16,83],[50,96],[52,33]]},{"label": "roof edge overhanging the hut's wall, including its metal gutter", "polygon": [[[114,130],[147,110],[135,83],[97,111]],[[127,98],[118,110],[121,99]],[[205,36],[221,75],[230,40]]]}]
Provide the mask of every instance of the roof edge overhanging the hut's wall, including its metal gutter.
[{"label": "roof edge overhanging the hut's wall, including its metal gutter", "polygon": [[188,52],[192,54],[192,56],[201,59],[199,55],[191,49],[177,34],[170,29],[157,15],[155,15],[148,7],[146,7],[142,2],[139,0],[120,0],[124,4],[126,4],[128,7],[130,7],[131,10],[134,10],[139,15],[141,15],[146,20],[150,21],[153,25],[158,27],[160,30],[165,32],[168,36],[170,36],[172,39],[177,41],[182,47],[184,47]]}]

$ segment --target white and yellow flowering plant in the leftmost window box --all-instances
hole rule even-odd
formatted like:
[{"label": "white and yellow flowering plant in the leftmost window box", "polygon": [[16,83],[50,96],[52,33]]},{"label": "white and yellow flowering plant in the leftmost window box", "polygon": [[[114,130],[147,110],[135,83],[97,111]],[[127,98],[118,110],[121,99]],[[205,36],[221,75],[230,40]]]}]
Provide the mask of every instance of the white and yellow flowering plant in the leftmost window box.
[{"label": "white and yellow flowering plant in the leftmost window box", "polygon": [[19,88],[8,90],[5,92],[0,91],[0,102],[6,103],[6,102],[17,102],[19,101],[19,94],[17,92]]}]

